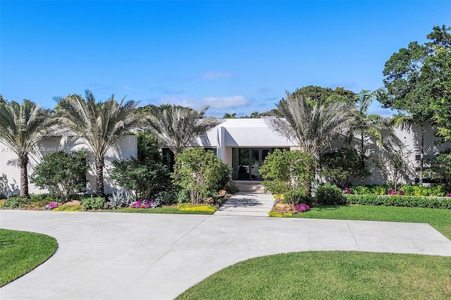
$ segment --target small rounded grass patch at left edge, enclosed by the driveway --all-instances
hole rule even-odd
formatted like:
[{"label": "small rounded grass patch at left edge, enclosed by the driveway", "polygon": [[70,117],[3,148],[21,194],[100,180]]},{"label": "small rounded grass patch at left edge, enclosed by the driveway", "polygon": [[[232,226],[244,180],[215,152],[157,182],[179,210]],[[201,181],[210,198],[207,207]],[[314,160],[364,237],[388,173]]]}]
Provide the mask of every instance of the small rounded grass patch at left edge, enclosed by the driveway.
[{"label": "small rounded grass patch at left edge, enclosed by the driveway", "polygon": [[47,261],[56,248],[53,237],[0,229],[0,287]]}]

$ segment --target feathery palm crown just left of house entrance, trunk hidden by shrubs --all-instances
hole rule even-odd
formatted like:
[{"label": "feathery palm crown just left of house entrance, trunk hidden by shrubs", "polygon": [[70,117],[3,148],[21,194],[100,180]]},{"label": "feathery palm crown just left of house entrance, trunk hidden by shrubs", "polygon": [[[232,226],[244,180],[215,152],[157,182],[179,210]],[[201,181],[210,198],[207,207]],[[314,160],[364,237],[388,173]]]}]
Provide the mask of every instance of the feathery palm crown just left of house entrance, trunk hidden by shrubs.
[{"label": "feathery palm crown just left of house entrance, trunk hidden by shrubs", "polygon": [[196,139],[223,120],[205,117],[208,106],[195,111],[189,107],[163,105],[147,117],[149,130],[176,156],[189,146],[197,145]]}]

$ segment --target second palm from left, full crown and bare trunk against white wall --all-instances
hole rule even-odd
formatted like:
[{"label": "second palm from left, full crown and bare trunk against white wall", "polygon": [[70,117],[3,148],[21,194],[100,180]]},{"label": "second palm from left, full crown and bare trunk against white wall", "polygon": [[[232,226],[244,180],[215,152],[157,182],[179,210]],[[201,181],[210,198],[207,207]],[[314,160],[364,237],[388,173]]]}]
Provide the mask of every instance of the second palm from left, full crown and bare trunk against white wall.
[{"label": "second palm from left, full crown and bare trunk against white wall", "polygon": [[84,139],[92,151],[96,165],[96,194],[104,196],[104,165],[106,152],[137,125],[140,115],[133,113],[137,102],[117,102],[114,95],[104,102],[96,102],[88,89],[85,98],[70,95],[60,98],[56,115],[71,134]]}]

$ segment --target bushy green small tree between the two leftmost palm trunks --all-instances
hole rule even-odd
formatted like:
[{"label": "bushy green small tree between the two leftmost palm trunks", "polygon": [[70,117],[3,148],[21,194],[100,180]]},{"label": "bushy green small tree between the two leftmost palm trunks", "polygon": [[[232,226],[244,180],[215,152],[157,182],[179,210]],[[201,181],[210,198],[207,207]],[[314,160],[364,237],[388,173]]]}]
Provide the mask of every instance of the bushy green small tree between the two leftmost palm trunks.
[{"label": "bushy green small tree between the two leftmost palm trunks", "polygon": [[85,152],[58,151],[42,158],[30,181],[66,202],[86,187],[88,168]]}]

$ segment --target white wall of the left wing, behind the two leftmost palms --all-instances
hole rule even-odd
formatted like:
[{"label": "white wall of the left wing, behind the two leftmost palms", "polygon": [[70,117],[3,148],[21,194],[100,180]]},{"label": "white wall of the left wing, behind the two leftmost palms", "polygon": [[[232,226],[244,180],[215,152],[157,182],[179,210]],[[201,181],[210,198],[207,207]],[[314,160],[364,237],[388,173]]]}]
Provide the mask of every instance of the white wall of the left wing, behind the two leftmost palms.
[{"label": "white wall of the left wing, behind the two leftmost palms", "polygon": [[[30,154],[30,162],[28,163],[28,175],[32,175],[33,168],[41,160],[42,156],[46,154],[51,154],[56,151],[80,151],[82,149],[87,149],[87,146],[82,141],[82,139],[68,139],[67,137],[47,137],[42,142],[37,145],[38,151]],[[111,182],[109,177],[109,170],[112,168],[111,162],[121,159],[126,159],[132,157],[137,157],[137,137],[135,135],[128,135],[121,137],[117,145],[111,148],[105,157],[105,169],[104,169],[104,182],[105,182],[105,192],[111,193],[116,191],[116,187]],[[95,192],[95,162],[91,153],[87,153],[87,161],[89,163],[89,171],[86,176],[88,180],[87,192]],[[8,179],[8,193],[16,194],[19,192],[20,187],[20,169],[17,165],[17,155],[11,151],[11,149],[6,146],[0,140],[0,176],[6,175]],[[45,190],[39,189],[32,183],[29,184],[30,193],[42,193],[47,192]]]}]

